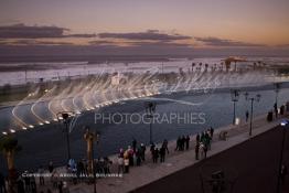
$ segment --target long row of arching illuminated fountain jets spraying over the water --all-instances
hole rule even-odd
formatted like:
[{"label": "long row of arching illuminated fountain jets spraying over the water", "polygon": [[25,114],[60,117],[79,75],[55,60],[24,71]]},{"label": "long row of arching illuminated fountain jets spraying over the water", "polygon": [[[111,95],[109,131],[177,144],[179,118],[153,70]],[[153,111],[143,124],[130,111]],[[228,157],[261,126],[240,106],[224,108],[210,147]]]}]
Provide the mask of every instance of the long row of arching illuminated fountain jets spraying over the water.
[{"label": "long row of arching illuminated fountain jets spraying over the water", "polygon": [[[156,99],[156,96],[160,94],[171,95],[179,92],[202,92],[206,94],[220,87],[247,86],[249,84],[256,86],[267,83],[264,73],[258,72],[238,74],[200,69],[197,72],[174,73],[168,76],[169,79],[161,79],[161,75],[158,67],[148,68],[143,73],[130,74],[101,71],[89,78],[60,82],[51,88],[46,88],[43,94],[41,94],[40,88],[36,88],[12,109],[13,129],[10,132],[57,121],[60,111],[72,111],[74,115],[81,115],[83,111],[98,110],[101,107],[124,100]],[[35,99],[35,96],[40,94],[41,96]],[[162,98],[161,100],[178,101],[170,98]],[[30,104],[30,107],[26,108],[28,105],[25,104]],[[23,110],[24,107],[25,110]],[[2,132],[2,135],[6,133],[7,131]]]}]

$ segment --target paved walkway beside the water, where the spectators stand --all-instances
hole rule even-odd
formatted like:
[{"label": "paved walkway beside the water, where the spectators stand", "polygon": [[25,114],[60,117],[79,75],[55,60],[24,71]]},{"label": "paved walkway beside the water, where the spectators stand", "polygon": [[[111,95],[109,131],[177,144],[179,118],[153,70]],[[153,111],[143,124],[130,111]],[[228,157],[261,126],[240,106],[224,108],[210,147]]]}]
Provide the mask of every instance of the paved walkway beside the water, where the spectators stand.
[{"label": "paved walkway beside the water, where the spectators stand", "polygon": [[[280,117],[272,122],[267,122],[265,116],[256,117],[253,122],[253,137],[258,136],[280,122]],[[226,141],[218,140],[218,133],[221,131],[228,131],[228,139]],[[239,144],[249,138],[249,124],[242,124],[239,126],[227,126],[215,129],[214,139],[211,150],[207,152],[207,157],[217,154],[233,146]],[[172,174],[181,169],[190,167],[199,161],[195,160],[194,153],[195,136],[191,136],[190,149],[186,151],[174,151],[175,140],[169,141],[170,153],[165,158],[164,163],[152,163],[149,148],[147,148],[147,161],[141,167],[130,167],[128,174],[124,174],[122,178],[106,178],[97,180],[96,189],[98,193],[125,193],[136,190],[137,187],[149,184],[165,175]],[[160,146],[160,144],[159,144]],[[117,173],[117,156],[111,156],[114,161],[110,172]],[[69,185],[69,192],[72,193],[90,193],[93,192],[93,185],[79,183],[76,185]]]}]

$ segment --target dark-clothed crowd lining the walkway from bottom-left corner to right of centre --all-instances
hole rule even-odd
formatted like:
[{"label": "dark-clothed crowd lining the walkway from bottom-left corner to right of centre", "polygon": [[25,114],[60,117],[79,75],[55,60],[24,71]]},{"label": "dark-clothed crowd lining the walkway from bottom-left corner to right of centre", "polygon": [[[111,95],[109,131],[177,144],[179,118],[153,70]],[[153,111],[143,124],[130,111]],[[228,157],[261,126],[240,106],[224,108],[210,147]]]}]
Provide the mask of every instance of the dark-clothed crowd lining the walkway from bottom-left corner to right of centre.
[{"label": "dark-clothed crowd lining the walkway from bottom-left corner to right of centre", "polygon": [[[211,149],[212,138],[213,138],[214,129],[211,127],[210,129],[203,131],[201,135],[196,135],[196,144],[195,144],[195,159],[199,160],[200,158],[206,158],[206,151]],[[190,149],[190,136],[181,136],[176,139],[176,146],[175,151],[185,151]],[[150,144],[150,156],[152,163],[162,163],[165,161],[167,154],[170,153],[169,147],[168,147],[168,140],[164,139],[161,144],[151,143]],[[138,143],[136,139],[132,140],[131,146],[128,146],[127,149],[120,149],[118,157],[117,157],[117,173],[124,174],[129,173],[130,167],[139,167],[146,161],[146,152],[147,147],[143,143]],[[68,163],[66,165],[66,173],[73,174],[69,175],[71,178],[61,178],[57,170],[55,170],[53,162],[50,162],[46,168],[40,165],[38,173],[39,176],[25,176],[25,173],[29,173],[28,171],[24,172],[24,175],[20,175],[17,180],[17,186],[19,193],[34,193],[34,192],[42,192],[36,190],[36,184],[39,184],[40,190],[41,186],[45,186],[51,184],[52,189],[46,189],[46,193],[52,192],[53,190],[57,190],[60,193],[68,192],[67,189],[67,182],[72,182],[74,184],[78,182],[84,182],[86,178],[89,175],[89,169],[88,169],[89,162],[85,159],[75,161],[73,159],[68,160]],[[94,172],[97,174],[109,174],[110,173],[110,167],[113,164],[113,161],[109,160],[108,157],[106,158],[98,158],[94,160]],[[49,180],[46,180],[42,174],[49,172],[51,173],[51,176]],[[69,180],[67,180],[69,179]],[[2,183],[3,181],[3,183]],[[36,183],[39,181],[39,183]],[[49,181],[49,182],[47,182]],[[87,182],[87,181],[86,181]],[[89,182],[88,182],[89,183]],[[4,186],[4,178],[0,175],[0,192],[4,193],[6,186]],[[52,191],[51,191],[52,190]]]}]

